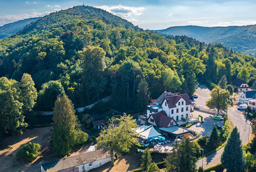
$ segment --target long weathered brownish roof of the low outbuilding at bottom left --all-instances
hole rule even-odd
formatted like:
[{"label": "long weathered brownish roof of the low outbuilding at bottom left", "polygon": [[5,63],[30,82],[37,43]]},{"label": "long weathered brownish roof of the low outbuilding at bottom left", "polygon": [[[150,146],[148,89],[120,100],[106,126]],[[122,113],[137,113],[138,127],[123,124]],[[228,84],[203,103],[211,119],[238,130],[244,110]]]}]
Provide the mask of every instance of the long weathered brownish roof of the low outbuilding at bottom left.
[{"label": "long weathered brownish roof of the low outbuilding at bottom left", "polygon": [[47,162],[45,164],[42,164],[41,166],[44,168],[45,171],[47,171],[47,169],[49,171],[60,171],[62,169],[68,169],[80,166],[82,164],[87,164],[89,162],[99,161],[100,159],[105,159],[109,156],[110,155],[108,154],[108,152],[103,152],[103,149],[99,149],[92,152],[86,152],[84,154]]}]

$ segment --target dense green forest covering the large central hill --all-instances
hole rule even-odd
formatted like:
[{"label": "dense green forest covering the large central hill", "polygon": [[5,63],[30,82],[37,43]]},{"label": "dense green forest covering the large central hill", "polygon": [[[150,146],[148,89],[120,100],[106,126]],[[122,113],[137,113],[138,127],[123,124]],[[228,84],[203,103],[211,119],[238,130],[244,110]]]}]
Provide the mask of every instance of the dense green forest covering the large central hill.
[{"label": "dense green forest covering the large central hill", "polygon": [[90,6],[51,13],[0,41],[0,76],[30,74],[36,110],[51,111],[63,92],[75,107],[111,95],[113,106],[134,110],[144,79],[152,98],[164,90],[191,95],[198,81],[218,83],[223,75],[253,83],[255,67],[254,57],[221,44],[143,31]]}]

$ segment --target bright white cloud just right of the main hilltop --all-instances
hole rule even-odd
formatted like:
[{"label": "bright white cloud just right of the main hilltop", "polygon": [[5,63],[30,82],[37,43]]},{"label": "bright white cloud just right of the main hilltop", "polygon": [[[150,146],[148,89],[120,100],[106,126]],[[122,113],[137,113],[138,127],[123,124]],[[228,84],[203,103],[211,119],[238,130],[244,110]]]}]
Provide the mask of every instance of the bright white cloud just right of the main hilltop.
[{"label": "bright white cloud just right of the main hilltop", "polygon": [[138,17],[145,10],[144,7],[122,6],[121,4],[118,4],[118,6],[96,6],[96,8],[106,10],[113,15],[125,18],[130,22],[138,22],[134,17]]}]

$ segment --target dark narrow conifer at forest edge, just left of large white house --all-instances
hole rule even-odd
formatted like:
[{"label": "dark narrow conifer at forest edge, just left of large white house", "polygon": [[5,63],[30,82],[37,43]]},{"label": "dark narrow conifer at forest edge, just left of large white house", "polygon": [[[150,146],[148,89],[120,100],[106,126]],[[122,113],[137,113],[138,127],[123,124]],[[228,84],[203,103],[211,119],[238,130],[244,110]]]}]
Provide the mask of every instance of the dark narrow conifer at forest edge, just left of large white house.
[{"label": "dark narrow conifer at forest edge, just left of large white house", "polygon": [[150,99],[150,92],[148,90],[148,83],[145,78],[141,79],[138,86],[138,109],[143,110],[146,108]]}]

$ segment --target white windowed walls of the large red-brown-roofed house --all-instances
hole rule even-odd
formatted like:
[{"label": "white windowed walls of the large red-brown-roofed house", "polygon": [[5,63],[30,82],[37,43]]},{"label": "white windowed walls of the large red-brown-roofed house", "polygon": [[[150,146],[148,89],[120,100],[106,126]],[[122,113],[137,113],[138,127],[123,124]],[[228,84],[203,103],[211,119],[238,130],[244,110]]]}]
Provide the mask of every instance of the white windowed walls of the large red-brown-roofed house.
[{"label": "white windowed walls of the large red-brown-roofed house", "polygon": [[175,121],[180,121],[182,118],[190,118],[191,105],[186,105],[186,100],[183,98],[180,98],[175,108],[169,108],[166,99],[164,99],[162,106],[167,116],[173,118]]}]

